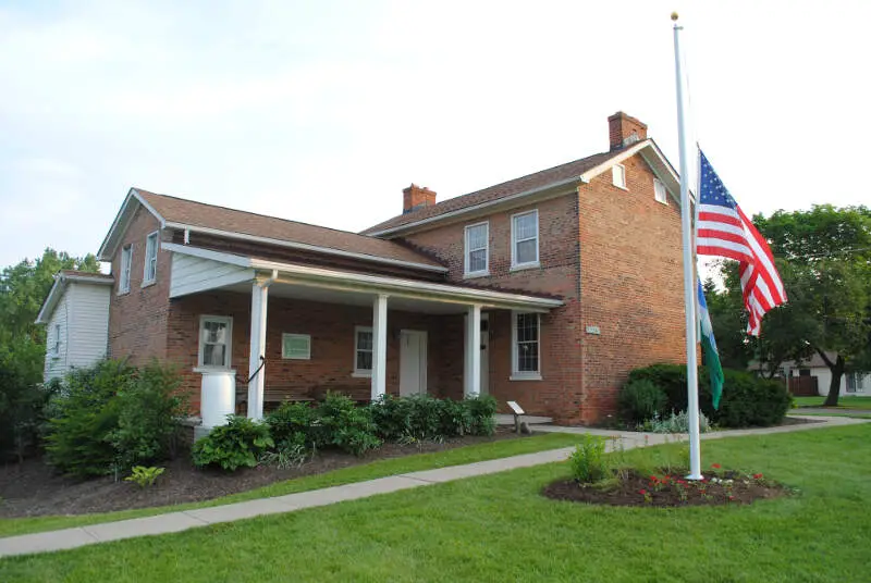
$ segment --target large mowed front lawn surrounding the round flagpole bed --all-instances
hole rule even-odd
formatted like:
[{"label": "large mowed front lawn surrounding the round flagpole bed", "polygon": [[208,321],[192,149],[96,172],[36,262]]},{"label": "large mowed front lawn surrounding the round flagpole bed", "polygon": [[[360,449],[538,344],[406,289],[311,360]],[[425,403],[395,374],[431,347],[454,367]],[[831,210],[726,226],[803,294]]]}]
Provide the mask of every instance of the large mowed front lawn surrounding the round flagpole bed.
[{"label": "large mowed front lawn surrounding the round flagpole bed", "polygon": [[[704,467],[799,489],[750,506],[539,495],[565,463],[0,560],[0,581],[868,581],[871,424],[703,442]],[[658,457],[661,448],[627,452]]]}]

